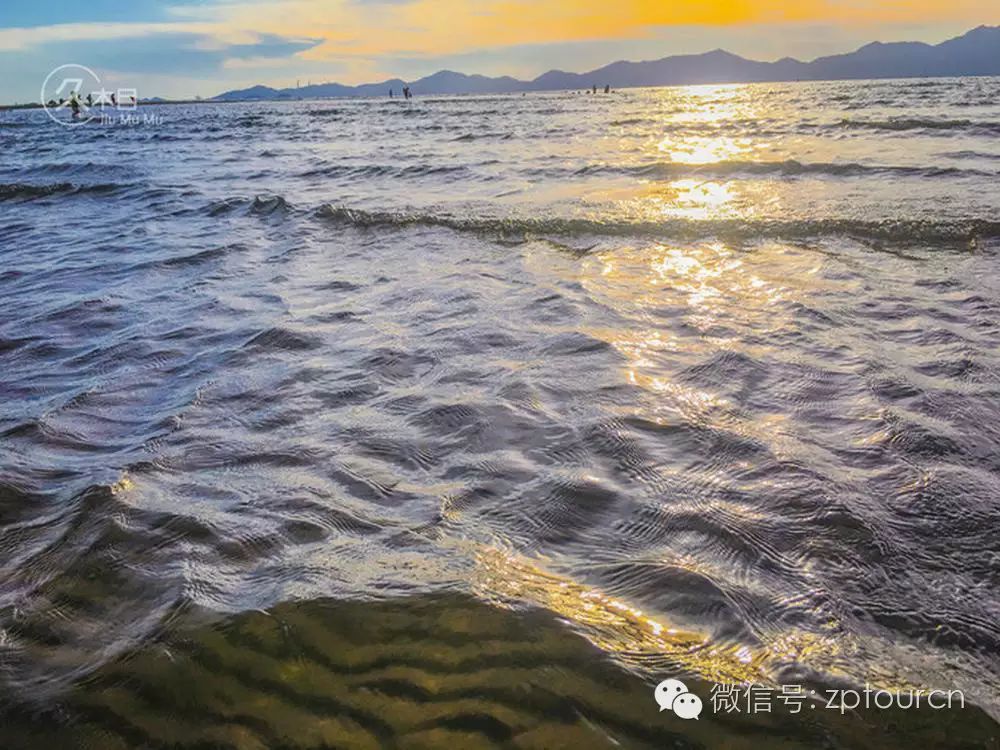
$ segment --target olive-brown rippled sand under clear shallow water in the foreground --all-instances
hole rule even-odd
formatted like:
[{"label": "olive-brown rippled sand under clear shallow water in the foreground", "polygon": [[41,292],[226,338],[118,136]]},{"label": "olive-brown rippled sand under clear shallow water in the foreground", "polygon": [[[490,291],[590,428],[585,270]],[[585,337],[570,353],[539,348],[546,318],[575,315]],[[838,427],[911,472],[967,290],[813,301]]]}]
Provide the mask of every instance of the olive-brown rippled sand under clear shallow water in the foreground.
[{"label": "olive-brown rippled sand under clear shallow water in the foreground", "polygon": [[47,711],[3,715],[4,748],[990,748],[965,710],[659,713],[652,684],[551,614],[453,596],[179,615]]}]

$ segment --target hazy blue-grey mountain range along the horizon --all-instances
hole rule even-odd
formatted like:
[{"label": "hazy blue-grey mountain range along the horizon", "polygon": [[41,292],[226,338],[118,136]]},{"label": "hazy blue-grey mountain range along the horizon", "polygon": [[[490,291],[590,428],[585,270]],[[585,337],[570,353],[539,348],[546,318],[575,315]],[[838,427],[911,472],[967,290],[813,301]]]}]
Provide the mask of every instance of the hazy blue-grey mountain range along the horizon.
[{"label": "hazy blue-grey mountain range along the horizon", "polygon": [[300,88],[253,86],[227,91],[219,100],[299,99],[337,96],[398,95],[404,85],[415,94],[507,94],[520,91],[588,89],[591,86],[630,88],[698,83],[754,83],[765,81],[823,81],[859,78],[933,78],[1000,75],[1000,26],[980,26],[941,44],[872,42],[844,55],[802,62],[790,57],[776,62],[747,60],[715,50],[700,55],[677,55],[645,62],[619,61],[588,73],[550,70],[531,81],[510,76],[490,78],[442,70],[416,81],[398,78],[381,83],[345,86],[320,83]]}]

